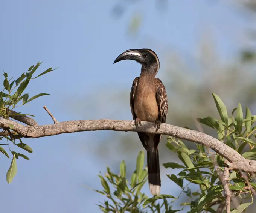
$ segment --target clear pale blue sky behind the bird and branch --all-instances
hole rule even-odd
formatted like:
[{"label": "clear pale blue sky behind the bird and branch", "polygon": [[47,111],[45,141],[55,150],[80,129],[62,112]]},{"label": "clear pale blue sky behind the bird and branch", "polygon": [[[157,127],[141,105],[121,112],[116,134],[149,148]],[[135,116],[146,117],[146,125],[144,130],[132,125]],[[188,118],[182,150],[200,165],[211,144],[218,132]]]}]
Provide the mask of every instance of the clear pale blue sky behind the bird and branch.
[{"label": "clear pale blue sky behind the bird and branch", "polygon": [[[44,60],[38,72],[59,67],[31,81],[27,88],[30,96],[42,92],[51,95],[36,99],[29,106],[19,108],[20,111],[35,115],[39,124],[52,123],[44,105],[58,121],[131,120],[128,93],[140,67],[132,62],[113,65],[120,53],[131,48],[151,48],[161,61],[165,57],[162,49],[168,49],[191,59],[202,33],[210,28],[218,54],[228,60],[242,46],[241,32],[248,26],[229,1],[168,1],[168,8],[159,11],[155,10],[155,1],[141,0],[126,4],[122,17],[115,18],[111,11],[116,3],[119,1],[9,0],[0,3],[0,69],[17,78],[38,61]],[[143,21],[133,38],[127,36],[127,27],[137,13],[142,13]],[[159,72],[158,77],[161,76],[163,73]],[[102,94],[104,90],[108,91],[107,98],[102,97],[104,104],[108,102],[106,105],[100,104],[96,96],[90,96]],[[127,91],[126,107],[122,109],[123,103],[111,96],[112,92],[116,96],[118,91]],[[111,97],[113,102],[108,101]],[[84,185],[101,189],[98,172],[129,156],[123,153],[120,158],[112,159],[110,155],[103,162],[94,154],[99,146],[96,135],[102,139],[108,132],[24,139],[34,153],[27,154],[29,161],[17,160],[18,172],[11,184],[6,182],[11,160],[0,155],[2,211],[99,212],[95,204],[103,198]],[[81,143],[88,147],[86,152],[77,148]]]}]

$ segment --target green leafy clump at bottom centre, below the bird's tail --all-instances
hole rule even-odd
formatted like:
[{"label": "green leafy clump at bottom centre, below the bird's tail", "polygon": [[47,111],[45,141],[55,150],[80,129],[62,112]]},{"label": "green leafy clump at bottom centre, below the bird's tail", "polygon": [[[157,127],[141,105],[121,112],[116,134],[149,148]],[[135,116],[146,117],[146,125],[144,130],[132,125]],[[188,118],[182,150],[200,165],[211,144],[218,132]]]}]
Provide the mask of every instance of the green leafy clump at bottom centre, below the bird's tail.
[{"label": "green leafy clump at bottom centre, below the bird's tail", "polygon": [[[160,212],[161,208],[165,208],[166,211],[172,212],[171,205],[168,204],[166,198],[174,198],[171,195],[160,195],[158,199],[164,200],[163,204],[154,204],[150,202],[148,196],[141,192],[142,187],[147,183],[147,170],[144,167],[144,152],[140,151],[137,157],[136,170],[131,176],[131,180],[126,179],[126,165],[122,161],[120,164],[120,173],[114,174],[110,168],[107,167],[107,174],[105,177],[99,175],[103,190],[95,190],[102,195],[107,196],[109,201],[105,201],[98,205],[100,209],[107,212]],[[113,188],[113,192],[109,186]]]}]

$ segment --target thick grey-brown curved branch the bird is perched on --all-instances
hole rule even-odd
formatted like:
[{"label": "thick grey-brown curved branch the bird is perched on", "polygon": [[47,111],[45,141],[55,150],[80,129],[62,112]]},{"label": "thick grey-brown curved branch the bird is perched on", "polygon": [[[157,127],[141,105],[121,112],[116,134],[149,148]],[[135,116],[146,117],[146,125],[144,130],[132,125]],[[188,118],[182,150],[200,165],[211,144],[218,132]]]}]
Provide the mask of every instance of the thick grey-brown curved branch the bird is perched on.
[{"label": "thick grey-brown curved branch the bird is perched on", "polygon": [[202,144],[219,153],[229,161],[229,167],[241,169],[244,172],[256,172],[256,161],[248,160],[241,156],[226,144],[222,143],[212,136],[206,135],[195,130],[185,129],[178,126],[162,123],[160,129],[155,132],[154,123],[142,121],[142,126],[136,128],[134,121],[125,120],[76,120],[64,121],[52,125],[43,126],[24,126],[12,120],[0,118],[0,126],[9,129],[12,125],[15,132],[25,138],[40,138],[45,136],[59,135],[63,133],[113,130],[123,132],[147,132],[173,136],[175,138],[185,139],[191,142]]}]

